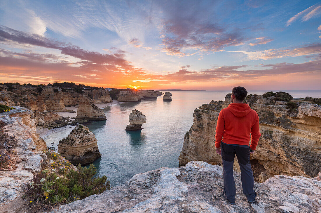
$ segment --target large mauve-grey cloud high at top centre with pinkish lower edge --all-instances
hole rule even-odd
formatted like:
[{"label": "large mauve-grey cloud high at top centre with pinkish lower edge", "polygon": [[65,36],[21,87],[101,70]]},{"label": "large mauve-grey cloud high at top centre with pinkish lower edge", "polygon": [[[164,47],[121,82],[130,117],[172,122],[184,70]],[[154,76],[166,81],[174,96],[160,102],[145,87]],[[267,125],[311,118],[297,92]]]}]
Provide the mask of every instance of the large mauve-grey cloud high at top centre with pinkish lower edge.
[{"label": "large mauve-grey cloud high at top centre with pinkish lower edge", "polygon": [[242,36],[240,29],[218,24],[218,17],[208,10],[216,4],[214,1],[207,4],[176,1],[159,5],[163,13],[160,24],[162,51],[183,57],[244,44],[247,39]]}]

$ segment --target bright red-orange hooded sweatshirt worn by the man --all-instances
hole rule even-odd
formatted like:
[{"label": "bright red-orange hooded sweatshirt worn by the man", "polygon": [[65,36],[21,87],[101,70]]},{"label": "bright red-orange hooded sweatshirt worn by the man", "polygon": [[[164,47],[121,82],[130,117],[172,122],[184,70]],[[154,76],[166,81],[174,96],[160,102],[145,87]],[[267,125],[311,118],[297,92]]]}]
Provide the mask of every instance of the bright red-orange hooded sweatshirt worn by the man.
[{"label": "bright red-orange hooded sweatshirt worn by the man", "polygon": [[248,146],[251,140],[250,148],[255,150],[261,137],[259,116],[246,103],[230,103],[228,107],[221,110],[215,132],[217,148],[221,147],[221,141],[226,144]]}]

